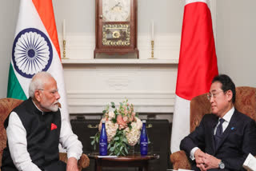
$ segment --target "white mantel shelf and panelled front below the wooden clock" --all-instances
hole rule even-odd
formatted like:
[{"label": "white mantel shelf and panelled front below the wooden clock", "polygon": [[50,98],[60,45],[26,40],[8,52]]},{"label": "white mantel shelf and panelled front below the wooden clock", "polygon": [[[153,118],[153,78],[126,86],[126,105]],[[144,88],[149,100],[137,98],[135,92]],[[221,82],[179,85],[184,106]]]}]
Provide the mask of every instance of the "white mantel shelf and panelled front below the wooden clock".
[{"label": "white mantel shelf and panelled front below the wooden clock", "polygon": [[126,98],[140,113],[172,113],[178,65],[151,64],[64,64],[70,113],[101,113],[106,103],[118,104]]}]

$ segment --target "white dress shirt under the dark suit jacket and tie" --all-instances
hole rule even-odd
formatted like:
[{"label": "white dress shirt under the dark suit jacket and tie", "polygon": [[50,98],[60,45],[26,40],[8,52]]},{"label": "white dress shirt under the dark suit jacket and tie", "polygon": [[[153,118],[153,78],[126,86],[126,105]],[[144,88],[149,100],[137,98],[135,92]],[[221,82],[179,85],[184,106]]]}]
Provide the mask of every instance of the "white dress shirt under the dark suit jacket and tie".
[{"label": "white dress shirt under the dark suit jacket and tie", "polygon": [[[230,119],[234,114],[234,106],[222,117],[222,119],[224,119],[224,122],[222,123],[222,132],[224,132],[227,128],[227,126],[230,124]],[[216,129],[219,125],[219,119],[218,118],[218,124],[215,126],[214,128],[214,135],[216,133]],[[195,157],[194,157],[194,152],[199,149],[198,147],[194,147],[193,149],[191,149],[190,151],[190,158],[192,161],[194,161]]]}]

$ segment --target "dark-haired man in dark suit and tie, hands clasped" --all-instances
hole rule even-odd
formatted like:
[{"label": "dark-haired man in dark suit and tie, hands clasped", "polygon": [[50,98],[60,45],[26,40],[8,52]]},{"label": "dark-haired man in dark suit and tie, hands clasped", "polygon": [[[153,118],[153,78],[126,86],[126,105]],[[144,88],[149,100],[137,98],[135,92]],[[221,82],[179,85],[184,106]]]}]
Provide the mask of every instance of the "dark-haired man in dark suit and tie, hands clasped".
[{"label": "dark-haired man in dark suit and tie, hands clasped", "polygon": [[225,74],[213,79],[208,99],[212,113],[181,141],[180,149],[194,170],[244,170],[248,154],[256,155],[255,121],[234,109],[235,85]]}]

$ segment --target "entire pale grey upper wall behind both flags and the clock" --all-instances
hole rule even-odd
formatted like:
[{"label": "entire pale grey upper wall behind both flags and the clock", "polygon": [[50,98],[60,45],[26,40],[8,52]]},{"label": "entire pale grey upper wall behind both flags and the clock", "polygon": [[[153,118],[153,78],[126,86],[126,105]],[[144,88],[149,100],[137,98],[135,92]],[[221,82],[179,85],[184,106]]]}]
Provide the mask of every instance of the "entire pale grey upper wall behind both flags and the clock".
[{"label": "entire pale grey upper wall behind both flags and the clock", "polygon": [[[94,34],[94,0],[54,0],[58,32],[66,18],[68,33]],[[229,74],[236,85],[256,86],[254,0],[216,0],[216,50],[220,73]],[[18,0],[0,1],[0,97],[6,97],[8,71]],[[183,1],[138,0],[138,34],[149,34],[154,18],[156,34],[180,34]]]}]

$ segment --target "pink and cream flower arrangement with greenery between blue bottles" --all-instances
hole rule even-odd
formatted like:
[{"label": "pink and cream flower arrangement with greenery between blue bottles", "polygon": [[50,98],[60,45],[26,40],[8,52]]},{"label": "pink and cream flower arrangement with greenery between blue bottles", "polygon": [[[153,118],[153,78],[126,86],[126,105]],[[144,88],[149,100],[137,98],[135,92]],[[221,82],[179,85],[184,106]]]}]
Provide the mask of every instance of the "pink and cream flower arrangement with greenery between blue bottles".
[{"label": "pink and cream flower arrangement with greenery between blue bottles", "polygon": [[106,109],[102,111],[103,117],[98,126],[98,133],[90,137],[93,139],[91,145],[96,149],[104,120],[110,155],[126,156],[131,146],[136,145],[139,140],[142,121],[138,114],[134,113],[134,105],[129,104],[128,100],[120,102],[118,109],[114,102],[111,102],[111,108],[110,105],[106,105]]}]

